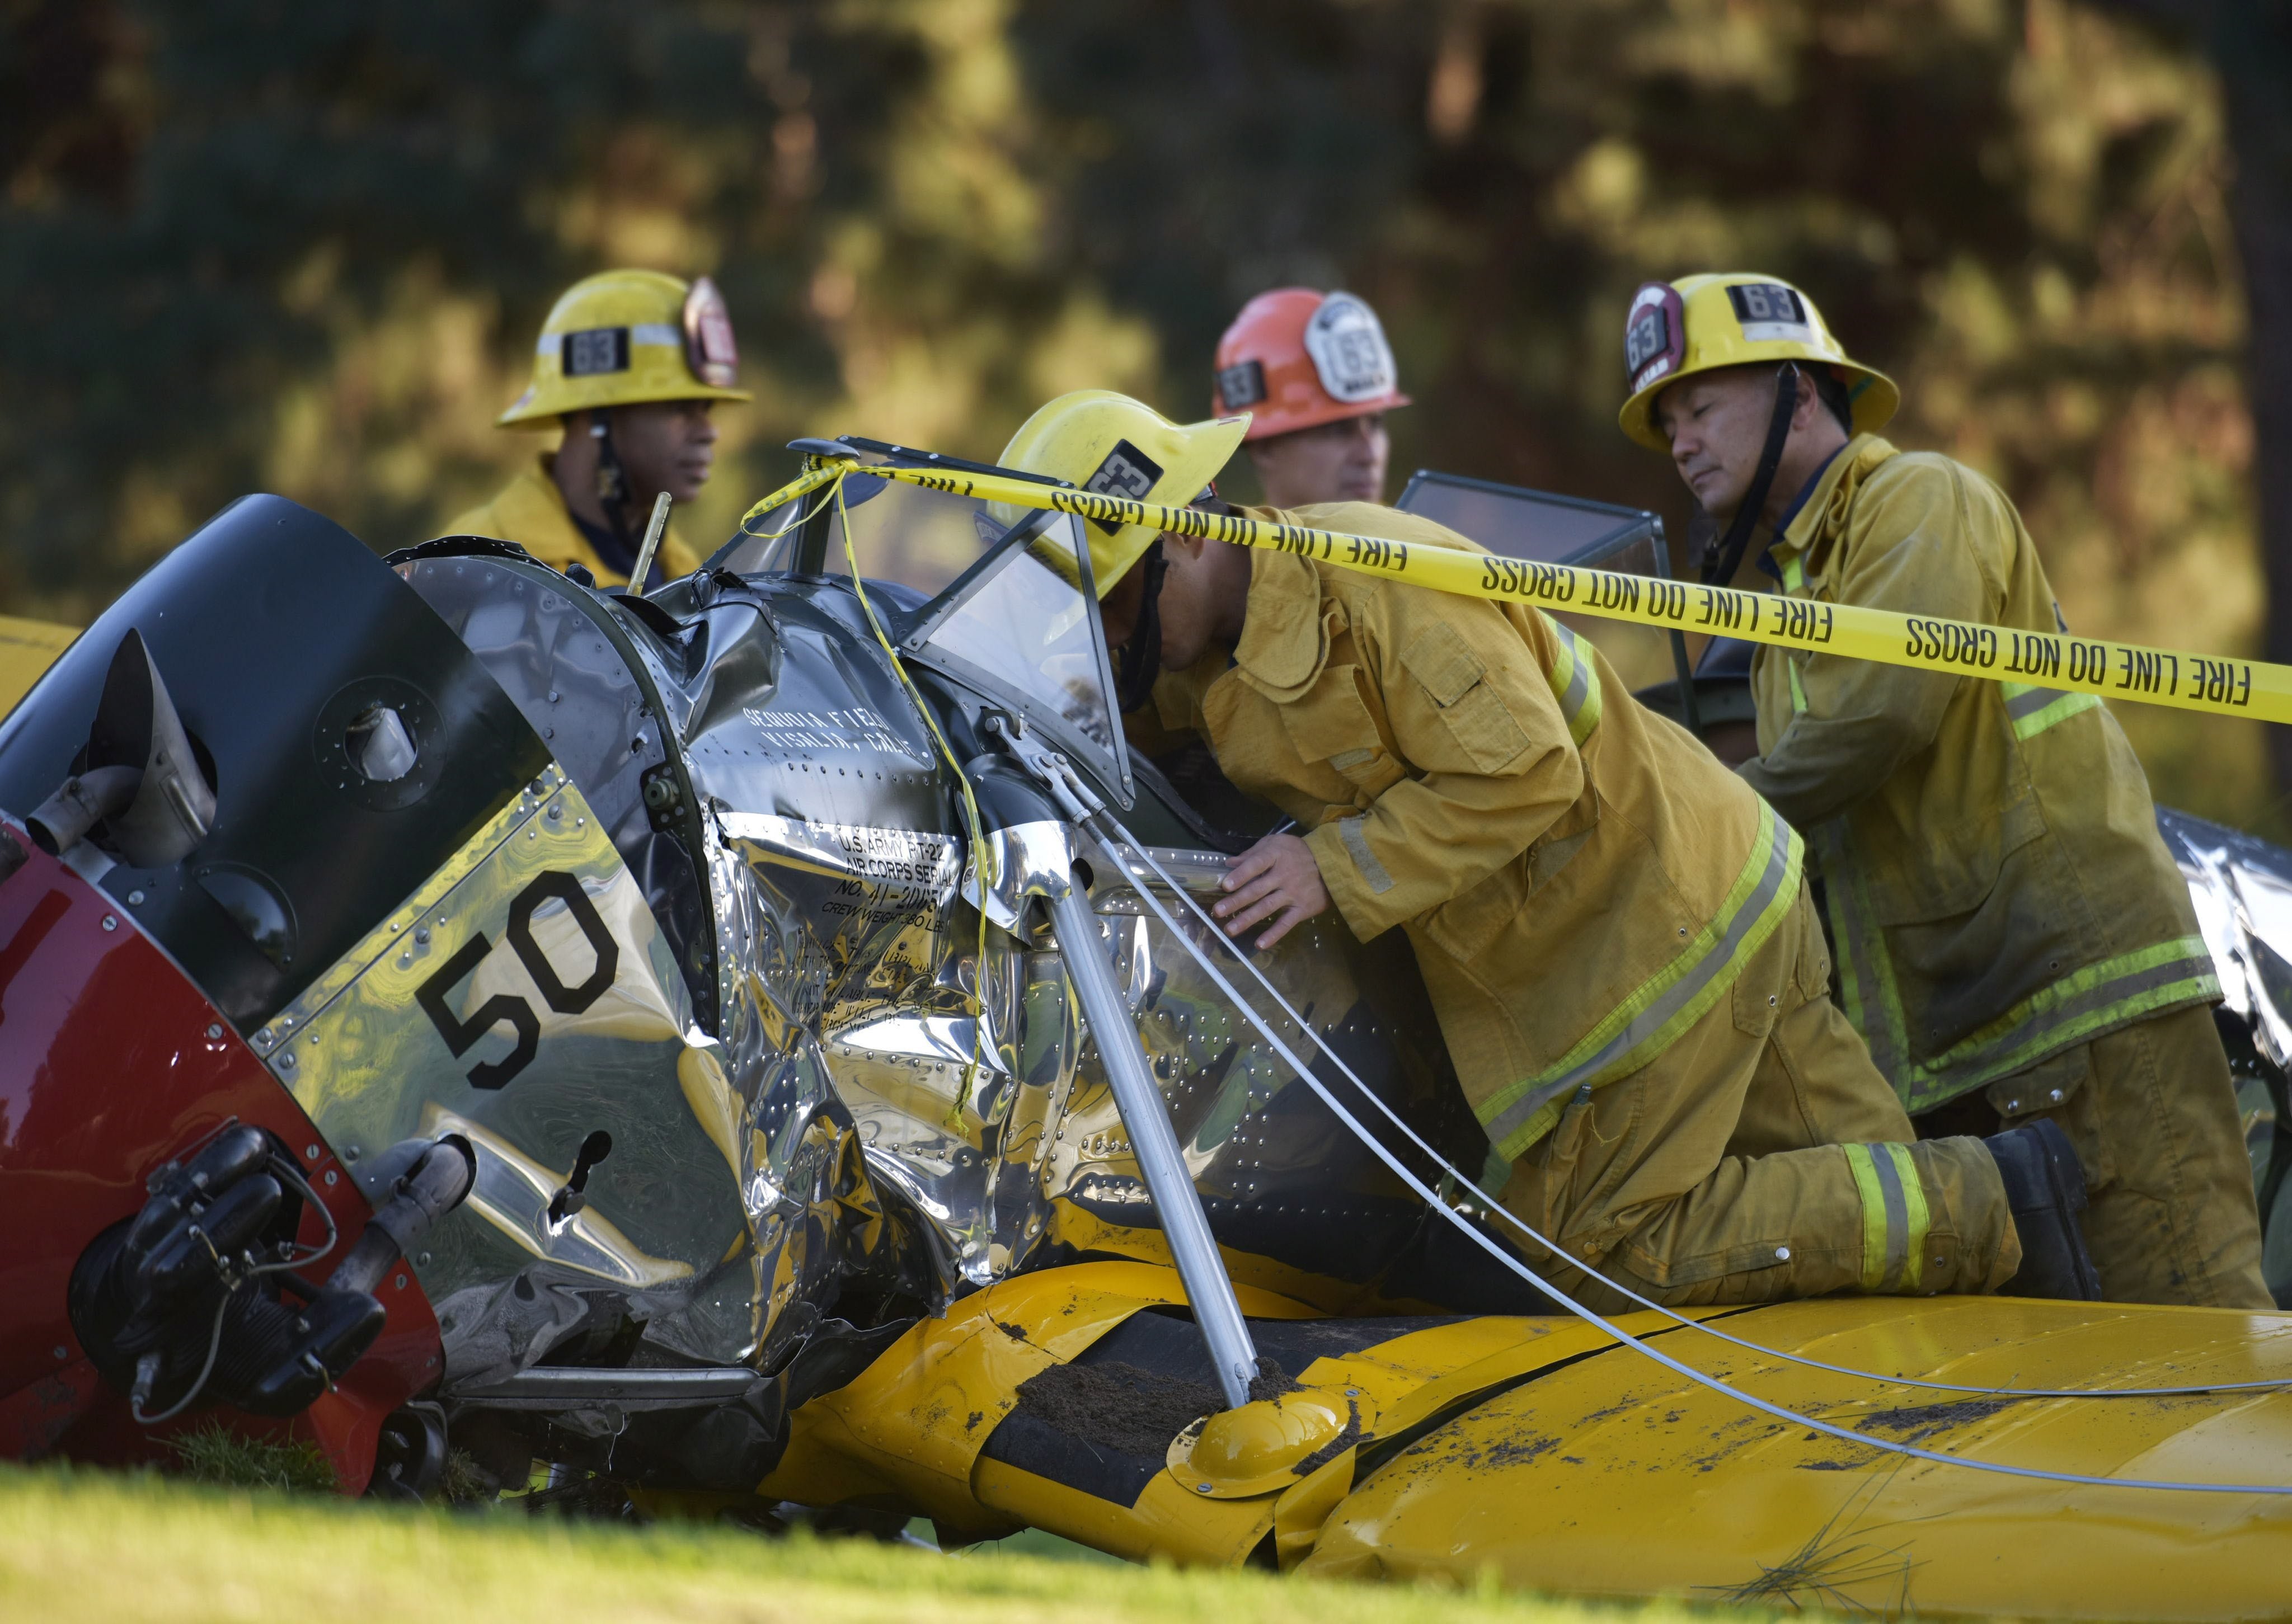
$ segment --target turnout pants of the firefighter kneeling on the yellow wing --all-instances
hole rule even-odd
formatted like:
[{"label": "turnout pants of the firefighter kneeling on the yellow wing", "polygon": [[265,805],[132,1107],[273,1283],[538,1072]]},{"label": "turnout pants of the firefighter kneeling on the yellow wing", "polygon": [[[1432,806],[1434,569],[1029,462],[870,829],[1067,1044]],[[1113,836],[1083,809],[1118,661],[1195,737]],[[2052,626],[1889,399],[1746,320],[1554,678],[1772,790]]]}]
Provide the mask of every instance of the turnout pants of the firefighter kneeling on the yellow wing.
[{"label": "turnout pants of the firefighter kneeling on the yellow wing", "polygon": [[1989,1152],[1914,1141],[1829,976],[1802,886],[1726,999],[1650,1065],[1579,1093],[1513,1164],[1504,1205],[1556,1241],[1561,1290],[1630,1308],[1584,1262],[1673,1306],[2012,1276],[2022,1241]]}]

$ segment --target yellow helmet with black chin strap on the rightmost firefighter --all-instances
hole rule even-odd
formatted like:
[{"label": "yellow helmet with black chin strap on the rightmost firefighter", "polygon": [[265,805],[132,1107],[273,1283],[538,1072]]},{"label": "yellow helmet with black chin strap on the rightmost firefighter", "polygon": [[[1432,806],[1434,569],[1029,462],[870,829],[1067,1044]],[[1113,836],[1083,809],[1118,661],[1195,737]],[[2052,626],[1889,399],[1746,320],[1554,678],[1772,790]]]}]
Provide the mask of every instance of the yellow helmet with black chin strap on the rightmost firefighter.
[{"label": "yellow helmet with black chin strap on the rightmost firefighter", "polygon": [[1671,449],[1655,424],[1655,396],[1680,378],[1721,366],[1758,362],[1829,366],[1845,380],[1854,401],[1857,433],[1882,428],[1902,403],[1893,378],[1847,360],[1811,298],[1788,282],[1747,270],[1641,286],[1623,323],[1623,362],[1632,399],[1623,403],[1616,424],[1650,451]]}]

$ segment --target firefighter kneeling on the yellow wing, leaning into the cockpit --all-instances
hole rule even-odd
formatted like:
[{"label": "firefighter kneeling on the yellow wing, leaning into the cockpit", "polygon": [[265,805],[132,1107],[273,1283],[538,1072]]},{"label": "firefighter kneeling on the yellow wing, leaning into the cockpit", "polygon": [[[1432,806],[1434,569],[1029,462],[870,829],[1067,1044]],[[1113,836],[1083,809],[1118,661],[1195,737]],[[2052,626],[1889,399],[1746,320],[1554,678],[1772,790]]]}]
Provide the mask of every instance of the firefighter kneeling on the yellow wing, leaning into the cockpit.
[{"label": "firefighter kneeling on the yellow wing, leaning into the cockpit", "polygon": [[[1002,463],[1183,506],[1247,417],[1121,394],[1041,408]],[[1265,518],[1270,511],[1254,511]],[[1339,502],[1274,518],[1474,550]],[[1501,1200],[1666,1303],[1824,1292],[2079,1296],[2090,1260],[2049,1129],[1914,1141],[1829,999],[1799,836],[1543,612],[1290,552],[1091,527],[1125,687],[1309,834],[1238,859],[1217,914],[1261,946],[1332,902],[1410,935]],[[1992,1152],[1992,1143],[2001,1154]]]}]

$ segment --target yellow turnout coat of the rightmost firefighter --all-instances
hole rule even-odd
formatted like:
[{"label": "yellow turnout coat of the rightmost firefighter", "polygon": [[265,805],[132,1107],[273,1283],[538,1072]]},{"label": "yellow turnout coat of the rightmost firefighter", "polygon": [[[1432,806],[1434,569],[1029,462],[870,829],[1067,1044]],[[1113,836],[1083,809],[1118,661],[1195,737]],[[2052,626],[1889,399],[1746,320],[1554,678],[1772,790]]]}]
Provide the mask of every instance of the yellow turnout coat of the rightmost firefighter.
[{"label": "yellow turnout coat of the rightmost firefighter", "polygon": [[[1875,435],[1831,460],[1774,561],[1792,596],[2061,630],[2005,495]],[[1751,680],[1742,776],[1813,841],[1840,1003],[1909,1111],[2221,996],[2099,699],[1785,648]]]}]

